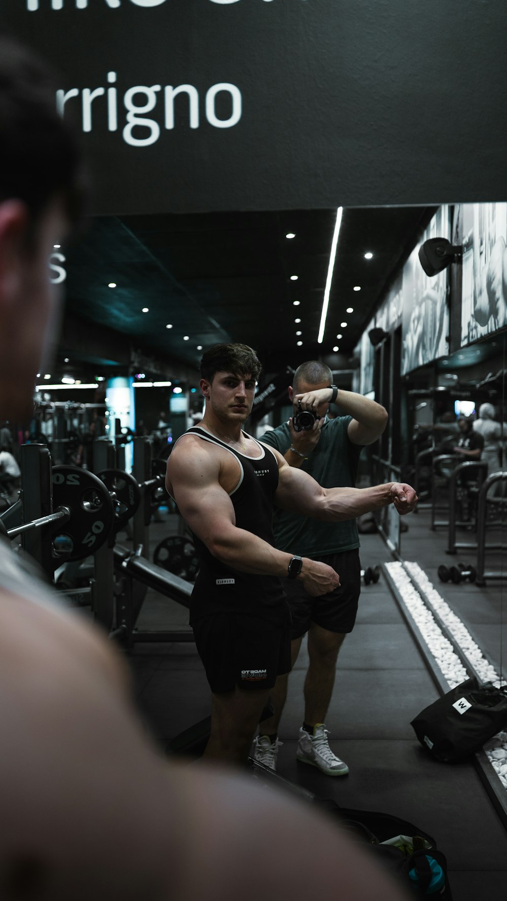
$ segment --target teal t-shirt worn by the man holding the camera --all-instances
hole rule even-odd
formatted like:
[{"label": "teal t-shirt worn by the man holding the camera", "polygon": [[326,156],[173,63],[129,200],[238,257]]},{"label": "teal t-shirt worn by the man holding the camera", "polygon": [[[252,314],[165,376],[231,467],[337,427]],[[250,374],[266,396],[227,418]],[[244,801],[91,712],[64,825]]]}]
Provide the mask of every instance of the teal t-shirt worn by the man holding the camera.
[{"label": "teal t-shirt worn by the man holding the camera", "polygon": [[[303,461],[303,469],[323,488],[353,487],[358,475],[359,455],[363,450],[349,441],[347,430],[352,416],[326,420],[317,447]],[[287,423],[278,425],[258,439],[284,454],[291,446]],[[286,513],[275,507],[273,532],[279,551],[289,551],[301,557],[323,557],[327,554],[351,551],[359,547],[358,525],[355,519],[341,523],[320,523],[309,516]]]}]

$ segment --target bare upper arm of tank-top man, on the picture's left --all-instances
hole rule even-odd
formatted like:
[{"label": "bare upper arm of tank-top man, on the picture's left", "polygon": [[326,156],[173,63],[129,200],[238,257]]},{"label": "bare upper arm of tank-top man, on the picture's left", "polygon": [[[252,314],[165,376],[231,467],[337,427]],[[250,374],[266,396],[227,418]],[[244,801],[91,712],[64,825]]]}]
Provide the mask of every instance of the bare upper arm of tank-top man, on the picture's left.
[{"label": "bare upper arm of tank-top man, on the picture's left", "polygon": [[175,447],[167,460],[166,487],[192,532],[217,556],[217,542],[234,529],[236,519],[220,484],[220,462],[200,444],[186,439]]}]

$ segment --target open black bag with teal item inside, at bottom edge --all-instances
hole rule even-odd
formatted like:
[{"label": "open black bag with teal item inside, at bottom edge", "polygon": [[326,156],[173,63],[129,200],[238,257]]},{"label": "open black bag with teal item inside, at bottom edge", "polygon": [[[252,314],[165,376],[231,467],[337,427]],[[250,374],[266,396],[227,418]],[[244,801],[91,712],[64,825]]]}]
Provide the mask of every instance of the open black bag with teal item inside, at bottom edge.
[{"label": "open black bag with teal item inside, at bottom edge", "polygon": [[[452,901],[447,860],[435,839],[419,826],[399,816],[340,807],[332,800],[315,798],[313,806],[330,815],[350,838],[369,848],[374,859],[409,895],[434,895],[441,901]],[[393,840],[398,842],[383,844]]]}]

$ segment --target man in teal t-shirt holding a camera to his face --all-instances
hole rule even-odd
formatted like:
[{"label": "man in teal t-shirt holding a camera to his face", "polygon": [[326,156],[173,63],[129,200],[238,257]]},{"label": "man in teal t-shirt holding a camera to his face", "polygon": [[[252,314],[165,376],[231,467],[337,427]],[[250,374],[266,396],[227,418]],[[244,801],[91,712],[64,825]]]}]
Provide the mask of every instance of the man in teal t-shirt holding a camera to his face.
[{"label": "man in teal t-shirt holding a camera to his face", "polygon": [[[289,386],[294,405],[312,405],[316,415],[308,431],[288,423],[266,432],[259,441],[276,448],[286,463],[308,473],[322,487],[353,487],[362,448],[372,444],[387,424],[385,408],[352,391],[332,386],[332,373],[319,360],[309,360],[295,370]],[[339,405],[345,415],[330,418],[330,405]],[[338,414],[336,406],[334,410]],[[296,423],[297,424],[297,423]],[[319,523],[308,516],[276,509],[273,517],[275,544],[279,551],[321,560],[340,573],[340,587],[328,594],[311,596],[302,582],[284,579],[291,607],[291,660],[297,660],[304,635],[308,634],[310,665],[304,682],[304,719],[299,731],[296,756],[328,776],[344,776],[349,767],[331,751],[324,723],[334,687],[336,660],[347,633],[352,632],[361,591],[359,535],[355,520]],[[276,769],[278,725],[287,695],[287,676],[279,676],[271,692],[274,714],[259,726],[255,758]]]}]

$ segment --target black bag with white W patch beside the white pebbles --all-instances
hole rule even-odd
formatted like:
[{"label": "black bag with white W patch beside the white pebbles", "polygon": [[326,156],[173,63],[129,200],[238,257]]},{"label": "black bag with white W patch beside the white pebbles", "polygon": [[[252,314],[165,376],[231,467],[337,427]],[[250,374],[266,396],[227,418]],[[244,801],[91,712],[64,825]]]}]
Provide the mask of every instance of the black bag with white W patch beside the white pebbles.
[{"label": "black bag with white W patch beside the white pebbles", "polygon": [[466,760],[507,727],[507,687],[466,679],[422,710],[411,725],[437,760]]}]

